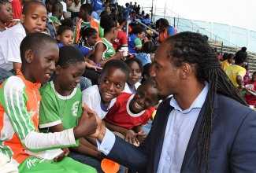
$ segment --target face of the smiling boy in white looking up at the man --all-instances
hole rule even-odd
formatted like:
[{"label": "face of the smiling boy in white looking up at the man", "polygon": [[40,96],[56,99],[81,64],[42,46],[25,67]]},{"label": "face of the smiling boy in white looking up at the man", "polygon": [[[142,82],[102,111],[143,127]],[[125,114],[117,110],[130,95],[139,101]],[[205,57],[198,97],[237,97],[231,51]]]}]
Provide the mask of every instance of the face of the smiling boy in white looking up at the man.
[{"label": "face of the smiling boy in white looking up at the man", "polygon": [[124,90],[126,75],[118,68],[106,69],[98,79],[98,90],[104,106],[107,108],[113,98],[117,98]]}]

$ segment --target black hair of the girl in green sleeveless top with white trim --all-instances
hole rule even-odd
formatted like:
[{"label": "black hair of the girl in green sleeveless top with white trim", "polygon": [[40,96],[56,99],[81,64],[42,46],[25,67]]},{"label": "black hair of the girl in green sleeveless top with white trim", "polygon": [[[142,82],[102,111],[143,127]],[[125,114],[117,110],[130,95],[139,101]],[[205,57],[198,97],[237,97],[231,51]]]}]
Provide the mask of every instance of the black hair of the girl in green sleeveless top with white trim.
[{"label": "black hair of the girl in green sleeveless top with white trim", "polygon": [[112,28],[117,27],[117,18],[109,15],[101,17],[100,25],[104,28],[104,34],[108,33]]}]

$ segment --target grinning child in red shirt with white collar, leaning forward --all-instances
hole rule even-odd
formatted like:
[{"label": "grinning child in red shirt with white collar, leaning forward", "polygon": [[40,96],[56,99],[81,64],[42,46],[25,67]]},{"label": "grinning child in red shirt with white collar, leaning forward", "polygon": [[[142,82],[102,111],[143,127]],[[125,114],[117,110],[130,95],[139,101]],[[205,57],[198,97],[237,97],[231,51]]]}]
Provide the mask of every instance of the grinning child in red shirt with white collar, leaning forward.
[{"label": "grinning child in red shirt with white collar, leaning forward", "polygon": [[106,114],[104,122],[110,131],[125,141],[139,145],[146,138],[143,126],[150,120],[154,105],[159,101],[153,79],[147,79],[135,94],[121,93],[115,105]]}]

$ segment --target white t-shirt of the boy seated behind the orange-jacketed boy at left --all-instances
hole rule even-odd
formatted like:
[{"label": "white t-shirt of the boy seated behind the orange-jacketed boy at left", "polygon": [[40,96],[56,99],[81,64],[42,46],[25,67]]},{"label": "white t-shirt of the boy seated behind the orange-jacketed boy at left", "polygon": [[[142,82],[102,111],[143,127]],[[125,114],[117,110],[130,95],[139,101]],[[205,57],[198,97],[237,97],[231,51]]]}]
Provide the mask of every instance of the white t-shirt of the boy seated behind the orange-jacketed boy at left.
[{"label": "white t-shirt of the boy seated behind the orange-jacketed boy at left", "polygon": [[1,32],[0,34],[0,68],[10,71],[13,62],[21,63],[20,43],[26,36],[21,23]]}]

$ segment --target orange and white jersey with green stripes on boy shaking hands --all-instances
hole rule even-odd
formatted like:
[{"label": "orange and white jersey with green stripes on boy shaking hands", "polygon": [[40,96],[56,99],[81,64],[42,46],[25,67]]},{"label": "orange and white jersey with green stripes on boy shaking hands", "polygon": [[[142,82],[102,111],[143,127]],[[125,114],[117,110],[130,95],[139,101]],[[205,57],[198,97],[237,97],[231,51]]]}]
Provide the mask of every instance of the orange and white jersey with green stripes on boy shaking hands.
[{"label": "orange and white jersey with green stripes on boy shaking hands", "polygon": [[0,86],[0,152],[17,166],[28,158],[28,149],[47,149],[78,145],[73,129],[59,133],[39,133],[40,83],[31,83],[21,72]]}]

